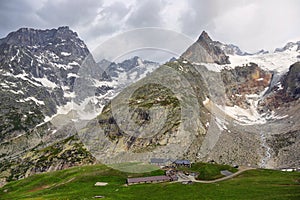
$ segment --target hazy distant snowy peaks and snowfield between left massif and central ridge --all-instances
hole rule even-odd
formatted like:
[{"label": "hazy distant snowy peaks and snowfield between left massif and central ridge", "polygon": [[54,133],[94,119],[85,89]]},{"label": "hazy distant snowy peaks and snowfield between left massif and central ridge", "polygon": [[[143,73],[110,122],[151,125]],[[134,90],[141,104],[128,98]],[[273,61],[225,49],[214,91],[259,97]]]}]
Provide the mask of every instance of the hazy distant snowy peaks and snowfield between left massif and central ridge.
[{"label": "hazy distant snowy peaks and snowfield between left massif and central ridge", "polygon": [[[70,112],[72,112],[72,116],[69,120],[65,120],[63,124],[70,121],[78,122],[95,118],[101,113],[102,108],[120,91],[149,75],[159,67],[159,64],[133,57],[121,63],[101,60],[97,63],[97,66],[98,70],[102,72],[97,77],[89,75],[95,72],[95,69],[91,69],[90,65],[85,66],[84,63],[81,66],[74,82],[72,101],[60,106],[58,112],[49,120],[57,115],[66,115]],[[87,74],[86,71],[89,70],[90,73]]]}]

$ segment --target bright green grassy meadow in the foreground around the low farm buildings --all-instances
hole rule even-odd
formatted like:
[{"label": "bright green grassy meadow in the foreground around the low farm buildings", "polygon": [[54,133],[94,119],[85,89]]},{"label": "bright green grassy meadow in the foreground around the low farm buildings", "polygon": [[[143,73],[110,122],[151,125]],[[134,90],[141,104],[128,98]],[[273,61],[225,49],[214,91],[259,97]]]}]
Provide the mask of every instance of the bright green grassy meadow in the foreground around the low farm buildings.
[{"label": "bright green grassy meadow in the foreground around the low farm buildings", "polygon": [[[105,165],[74,167],[34,175],[0,189],[0,199],[300,199],[300,173],[250,170],[227,181],[213,184],[181,183],[125,186],[128,176],[159,175],[160,170],[130,174]],[[96,187],[96,182],[107,186]]]}]

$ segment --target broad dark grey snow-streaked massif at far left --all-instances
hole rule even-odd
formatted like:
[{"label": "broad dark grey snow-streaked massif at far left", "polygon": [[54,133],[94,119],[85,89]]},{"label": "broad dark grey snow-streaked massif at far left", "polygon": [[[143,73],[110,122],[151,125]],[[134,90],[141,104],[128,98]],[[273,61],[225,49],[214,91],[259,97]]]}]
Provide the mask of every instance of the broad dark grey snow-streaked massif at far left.
[{"label": "broad dark grey snow-streaked massif at far left", "polygon": [[76,74],[88,55],[83,41],[68,27],[22,28],[1,39],[1,118],[5,122],[1,137],[34,128],[69,101]]}]

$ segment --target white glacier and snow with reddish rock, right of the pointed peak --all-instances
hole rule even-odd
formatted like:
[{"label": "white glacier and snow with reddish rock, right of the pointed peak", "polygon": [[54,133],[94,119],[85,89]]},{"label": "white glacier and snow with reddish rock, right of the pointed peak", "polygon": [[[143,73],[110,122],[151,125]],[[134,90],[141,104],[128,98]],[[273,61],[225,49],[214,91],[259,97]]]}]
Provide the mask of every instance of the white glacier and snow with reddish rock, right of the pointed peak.
[{"label": "white glacier and snow with reddish rock, right of the pointed peak", "polygon": [[[241,94],[241,90],[230,92],[228,94],[229,99],[231,99],[230,101],[239,99],[239,102],[233,100],[234,102],[230,103],[227,101],[227,104],[231,106],[225,107],[223,111],[245,124],[251,124],[253,122],[266,123],[268,119],[280,118],[280,116],[274,116],[274,112],[260,112],[262,109],[260,105],[262,105],[262,102],[266,101],[265,98],[270,95],[269,93],[271,93],[271,91],[274,92],[274,90],[277,91],[277,89],[282,91],[290,90],[287,89],[288,86],[283,87],[283,83],[286,82],[285,78],[288,77],[288,74],[291,74],[291,71],[297,71],[296,68],[298,67],[295,63],[300,62],[300,42],[289,42],[283,48],[277,48],[274,52],[261,50],[255,54],[244,53],[235,45],[222,44],[218,41],[212,42],[211,44],[219,46],[224,52],[227,52],[226,55],[229,56],[230,64],[219,65],[216,63],[205,62],[193,62],[192,64],[196,66],[204,65],[208,70],[221,72],[222,75],[225,75],[225,72],[228,71],[230,71],[231,74],[239,74],[239,77],[235,80],[237,83],[240,82],[239,79],[243,76],[241,71],[244,71],[243,74],[248,75],[255,72],[257,74],[253,75],[253,77],[255,77],[254,81],[263,86],[259,90],[260,92],[248,92],[246,94]],[[251,70],[249,71],[251,68],[253,68],[252,72]],[[228,77],[226,77],[226,79],[228,79]],[[251,79],[251,77],[248,79],[247,84],[249,84]],[[293,80],[296,82],[296,85],[298,85],[297,80],[298,79]],[[235,85],[239,85],[237,83],[235,83]],[[225,83],[225,87],[227,87],[226,84],[227,83]],[[253,87],[253,85],[250,86]],[[231,89],[226,88],[226,90],[230,91]],[[296,94],[294,94],[294,96],[295,95]],[[241,98],[242,96],[244,97]],[[279,96],[286,95],[281,93]],[[242,106],[246,109],[239,107],[241,102],[248,105]],[[271,102],[269,103],[271,104]],[[279,104],[277,106],[279,106]],[[274,109],[272,110],[274,111]]]}]

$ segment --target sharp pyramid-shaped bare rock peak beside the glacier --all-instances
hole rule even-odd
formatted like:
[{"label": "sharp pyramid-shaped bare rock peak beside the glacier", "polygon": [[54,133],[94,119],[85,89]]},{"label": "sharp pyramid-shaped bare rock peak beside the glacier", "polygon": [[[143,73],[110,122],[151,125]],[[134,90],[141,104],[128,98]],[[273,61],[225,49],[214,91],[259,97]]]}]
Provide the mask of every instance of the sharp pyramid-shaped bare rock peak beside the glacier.
[{"label": "sharp pyramid-shaped bare rock peak beside the glacier", "polygon": [[181,57],[195,63],[230,64],[228,56],[220,48],[219,42],[213,41],[205,31]]}]

